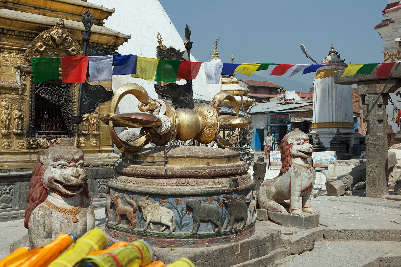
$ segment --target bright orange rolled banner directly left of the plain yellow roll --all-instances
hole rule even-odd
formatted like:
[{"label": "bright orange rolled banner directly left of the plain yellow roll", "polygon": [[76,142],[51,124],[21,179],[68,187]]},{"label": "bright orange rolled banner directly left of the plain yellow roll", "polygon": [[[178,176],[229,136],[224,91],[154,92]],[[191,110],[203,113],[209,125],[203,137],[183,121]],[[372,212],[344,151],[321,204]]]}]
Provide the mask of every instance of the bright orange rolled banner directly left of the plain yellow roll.
[{"label": "bright orange rolled banner directly left of the plain yellow roll", "polygon": [[[56,239],[43,247],[32,249],[30,252],[37,252],[22,262],[18,267],[46,267],[54,261],[69,245],[73,243],[73,237],[67,234],[60,234]],[[25,254],[24,254],[25,255]],[[8,265],[6,265],[8,267]],[[11,266],[11,265],[10,265]]]}]

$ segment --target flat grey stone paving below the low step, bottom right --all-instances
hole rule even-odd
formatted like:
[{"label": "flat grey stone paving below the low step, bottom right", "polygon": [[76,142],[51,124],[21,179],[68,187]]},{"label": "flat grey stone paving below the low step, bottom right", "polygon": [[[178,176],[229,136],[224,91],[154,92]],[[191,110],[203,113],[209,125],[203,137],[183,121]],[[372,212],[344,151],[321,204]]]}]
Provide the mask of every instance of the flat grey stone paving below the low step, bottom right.
[{"label": "flat grey stone paving below the low step, bottom right", "polygon": [[[383,267],[381,257],[401,242],[339,241],[287,261],[282,267]],[[398,251],[398,250],[397,250]],[[398,253],[398,252],[395,253]],[[393,265],[388,265],[391,267]],[[397,265],[399,266],[399,265]],[[387,267],[387,266],[386,266]]]}]

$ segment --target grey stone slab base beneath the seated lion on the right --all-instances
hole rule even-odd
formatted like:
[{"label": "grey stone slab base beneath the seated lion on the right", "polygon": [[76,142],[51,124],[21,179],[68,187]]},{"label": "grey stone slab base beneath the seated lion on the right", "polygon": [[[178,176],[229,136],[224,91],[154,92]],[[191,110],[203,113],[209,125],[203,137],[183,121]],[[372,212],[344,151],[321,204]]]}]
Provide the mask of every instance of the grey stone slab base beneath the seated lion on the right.
[{"label": "grey stone slab base beneath the seated lion on the right", "polygon": [[311,214],[304,217],[286,213],[267,211],[269,220],[282,226],[310,229],[318,226],[319,214]]}]

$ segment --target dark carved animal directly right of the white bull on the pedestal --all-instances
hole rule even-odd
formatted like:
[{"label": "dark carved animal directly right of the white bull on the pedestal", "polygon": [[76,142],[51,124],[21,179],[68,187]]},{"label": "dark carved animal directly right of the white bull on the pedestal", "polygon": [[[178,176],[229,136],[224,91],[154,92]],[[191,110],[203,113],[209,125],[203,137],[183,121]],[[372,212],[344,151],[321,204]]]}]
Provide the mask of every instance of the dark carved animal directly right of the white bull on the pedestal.
[{"label": "dark carved animal directly right of the white bull on the pedestal", "polygon": [[192,220],[194,222],[191,230],[192,235],[198,233],[201,223],[211,223],[214,232],[221,231],[221,213],[217,207],[203,204],[200,197],[186,199],[186,205],[192,209]]}]

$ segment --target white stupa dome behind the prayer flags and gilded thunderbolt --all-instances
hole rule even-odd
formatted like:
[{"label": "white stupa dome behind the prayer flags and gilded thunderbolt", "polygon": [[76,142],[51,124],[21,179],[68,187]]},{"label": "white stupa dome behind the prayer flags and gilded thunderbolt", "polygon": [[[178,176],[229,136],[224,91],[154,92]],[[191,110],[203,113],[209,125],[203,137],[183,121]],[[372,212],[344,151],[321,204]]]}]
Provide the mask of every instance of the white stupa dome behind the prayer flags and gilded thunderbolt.
[{"label": "white stupa dome behind the prayer flags and gilded thunderbolt", "polygon": [[[120,54],[136,54],[156,58],[157,34],[160,32],[163,44],[174,46],[176,49],[185,50],[183,40],[172,24],[170,18],[157,0],[89,0],[93,4],[103,5],[115,12],[107,20],[104,26],[117,30],[124,34],[132,34],[131,39],[118,48]],[[185,25],[179,25],[180,31],[184,31]],[[191,56],[191,60],[196,60]],[[140,78],[131,78],[130,75],[113,76],[113,90],[128,82],[134,82],[143,86],[149,96],[157,99],[154,83]],[[184,84],[182,80],[177,82]],[[198,76],[193,80],[194,98],[212,100],[220,91],[220,84],[207,86],[203,64]],[[139,101],[134,96],[125,96],[119,104],[117,112],[139,112]]]}]

